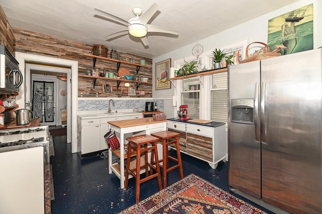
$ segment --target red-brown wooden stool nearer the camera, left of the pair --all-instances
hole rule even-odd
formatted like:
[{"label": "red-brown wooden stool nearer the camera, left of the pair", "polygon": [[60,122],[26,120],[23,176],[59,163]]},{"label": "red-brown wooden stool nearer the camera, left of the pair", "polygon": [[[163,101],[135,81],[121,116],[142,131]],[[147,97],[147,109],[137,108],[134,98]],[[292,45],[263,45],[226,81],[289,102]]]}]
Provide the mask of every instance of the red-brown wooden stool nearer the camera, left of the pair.
[{"label": "red-brown wooden stool nearer the camera, left of the pair", "polygon": [[[129,173],[135,178],[135,200],[136,203],[140,200],[140,183],[143,183],[147,180],[150,180],[154,177],[157,177],[157,182],[159,186],[159,190],[162,189],[161,184],[161,174],[160,174],[160,168],[158,164],[158,158],[157,158],[157,141],[158,138],[152,137],[150,135],[139,135],[134,137],[126,138],[126,140],[129,141],[128,148],[127,148],[127,162],[126,162],[126,170],[125,170],[125,188],[127,188],[128,180],[129,180]],[[148,147],[148,144],[151,144],[152,146]],[[144,146],[144,148],[141,148],[141,146]],[[131,153],[132,148],[134,148],[134,151],[136,152],[136,167],[134,169],[130,169],[130,162],[131,162]],[[152,165],[147,161],[147,151],[151,150],[153,153],[155,153],[156,158],[156,164],[155,166]],[[134,152],[133,151],[133,152]],[[145,164],[143,166],[140,165],[140,157],[141,153],[144,153],[145,158]],[[148,167],[150,167],[151,171],[155,171],[156,173],[152,174],[148,173]],[[145,177],[140,178],[140,171],[141,169],[145,168]]]}]

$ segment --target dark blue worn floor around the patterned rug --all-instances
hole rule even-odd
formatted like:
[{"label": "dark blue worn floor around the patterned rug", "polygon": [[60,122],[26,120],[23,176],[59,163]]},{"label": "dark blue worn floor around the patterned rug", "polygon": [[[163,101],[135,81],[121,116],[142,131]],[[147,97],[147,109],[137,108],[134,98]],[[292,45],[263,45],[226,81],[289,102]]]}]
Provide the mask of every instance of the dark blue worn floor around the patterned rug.
[{"label": "dark blue worn floor around the patterned rug", "polygon": [[[107,158],[93,156],[81,159],[78,154],[71,154],[71,145],[66,144],[66,136],[53,137],[53,143],[55,156],[50,159],[55,193],[55,199],[51,201],[53,214],[117,213],[135,203],[134,179],[129,180],[127,189],[121,189],[119,179],[114,174],[108,173]],[[227,162],[220,162],[215,170],[206,162],[185,154],[182,154],[182,162],[184,176],[194,173],[233,194],[229,191],[227,183]],[[179,178],[177,170],[170,172],[168,185],[178,181]],[[157,191],[156,178],[142,183],[140,199]],[[238,197],[250,202],[241,196]],[[267,211],[265,208],[262,209]]]}]

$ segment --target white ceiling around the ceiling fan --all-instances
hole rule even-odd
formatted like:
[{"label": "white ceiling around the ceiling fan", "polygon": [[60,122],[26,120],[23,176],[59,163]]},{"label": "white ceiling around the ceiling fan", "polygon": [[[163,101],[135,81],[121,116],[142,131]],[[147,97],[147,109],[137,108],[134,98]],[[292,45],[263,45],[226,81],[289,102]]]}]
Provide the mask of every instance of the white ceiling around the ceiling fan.
[{"label": "white ceiling around the ceiling fan", "polygon": [[[12,27],[154,58],[298,1],[0,0],[0,4]],[[134,6],[144,13],[153,3],[160,8],[149,24],[179,31],[178,37],[148,33],[148,47],[129,35],[106,41],[105,36],[127,27],[94,17],[100,15],[93,10],[97,8],[129,20]]]}]

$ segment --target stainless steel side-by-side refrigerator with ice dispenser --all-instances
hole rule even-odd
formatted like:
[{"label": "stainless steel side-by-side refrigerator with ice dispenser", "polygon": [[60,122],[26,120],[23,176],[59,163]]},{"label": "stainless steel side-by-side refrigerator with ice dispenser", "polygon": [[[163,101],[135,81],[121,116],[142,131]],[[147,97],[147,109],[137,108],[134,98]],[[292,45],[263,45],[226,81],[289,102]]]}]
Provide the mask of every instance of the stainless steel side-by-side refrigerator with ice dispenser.
[{"label": "stainless steel side-by-side refrigerator with ice dispenser", "polygon": [[232,65],[228,94],[231,190],[321,213],[322,49]]}]

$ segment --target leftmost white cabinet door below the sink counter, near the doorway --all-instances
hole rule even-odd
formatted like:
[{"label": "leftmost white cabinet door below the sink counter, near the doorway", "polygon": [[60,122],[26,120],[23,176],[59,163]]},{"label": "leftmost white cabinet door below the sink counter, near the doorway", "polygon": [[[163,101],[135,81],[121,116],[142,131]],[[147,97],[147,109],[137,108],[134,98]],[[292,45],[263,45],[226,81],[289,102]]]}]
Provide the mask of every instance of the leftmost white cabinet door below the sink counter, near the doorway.
[{"label": "leftmost white cabinet door below the sink counter, near the doorway", "polygon": [[82,154],[100,150],[100,125],[82,126]]}]

